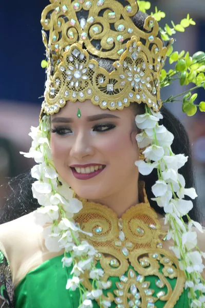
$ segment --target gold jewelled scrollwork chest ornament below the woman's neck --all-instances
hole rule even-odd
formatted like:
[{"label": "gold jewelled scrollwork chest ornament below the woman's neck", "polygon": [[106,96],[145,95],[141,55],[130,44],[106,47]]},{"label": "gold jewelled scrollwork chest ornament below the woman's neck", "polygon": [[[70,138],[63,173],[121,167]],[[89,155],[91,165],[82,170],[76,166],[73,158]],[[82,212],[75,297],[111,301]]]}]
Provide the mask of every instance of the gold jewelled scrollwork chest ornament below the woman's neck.
[{"label": "gold jewelled scrollwork chest ornament below the woman's neck", "polygon": [[[103,280],[107,282],[110,277],[119,277],[114,294],[108,292],[107,297],[103,296],[105,300],[114,301],[117,308],[156,308],[157,300],[163,301],[165,308],[172,308],[183,292],[184,273],[178,259],[163,249],[166,232],[161,230],[145,190],[141,191],[144,202],[129,208],[120,219],[107,206],[81,199],[83,209],[74,220],[85,232],[92,233],[92,237],[81,237],[98,251],[95,263],[99,261],[104,270]],[[156,296],[155,290],[150,288],[151,282],[146,279],[148,276],[157,277],[155,284],[159,290]],[[166,277],[176,278],[174,290]],[[84,286],[91,291],[88,271],[82,278]],[[167,292],[161,290],[164,286]]]}]

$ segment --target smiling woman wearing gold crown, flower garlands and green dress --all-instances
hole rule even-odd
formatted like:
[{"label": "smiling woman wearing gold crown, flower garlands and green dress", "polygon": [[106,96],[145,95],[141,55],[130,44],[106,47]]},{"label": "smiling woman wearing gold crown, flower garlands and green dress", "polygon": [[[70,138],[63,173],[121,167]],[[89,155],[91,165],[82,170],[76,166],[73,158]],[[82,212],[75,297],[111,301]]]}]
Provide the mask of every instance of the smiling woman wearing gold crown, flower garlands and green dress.
[{"label": "smiling woman wearing gold crown, flower garlands and green dress", "polygon": [[[49,42],[43,31],[48,79],[40,126],[32,128],[31,150],[24,153],[39,164],[31,176],[41,207],[1,225],[3,306],[187,307],[188,295],[191,306],[203,305],[204,255],[192,251],[193,225],[201,234],[202,228],[181,218],[193,207],[182,198],[195,199],[196,192],[184,188],[178,169],[187,158],[174,155],[173,134],[159,125],[167,48],[154,18],[136,14],[137,3],[130,4],[55,2],[42,14],[50,30]],[[114,22],[119,32],[127,29],[127,44],[114,33]],[[74,44],[67,46],[68,39]],[[153,169],[154,201],[164,207],[168,234],[138,181],[139,171]]]}]

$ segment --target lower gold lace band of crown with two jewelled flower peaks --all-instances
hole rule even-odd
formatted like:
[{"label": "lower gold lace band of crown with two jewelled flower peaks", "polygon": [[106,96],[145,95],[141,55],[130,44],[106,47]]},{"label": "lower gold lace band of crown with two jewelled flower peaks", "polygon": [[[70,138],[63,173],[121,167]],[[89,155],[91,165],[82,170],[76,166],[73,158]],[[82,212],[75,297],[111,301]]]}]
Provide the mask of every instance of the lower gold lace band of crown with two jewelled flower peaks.
[{"label": "lower gold lace band of crown with two jewelled flower peaks", "polygon": [[[159,60],[159,59],[158,59]],[[125,52],[108,73],[79,44],[73,44],[53,76],[42,105],[47,114],[58,112],[66,101],[91,100],[102,109],[122,110],[130,103],[145,103],[157,111],[161,107],[158,70],[150,51],[133,36]]]}]

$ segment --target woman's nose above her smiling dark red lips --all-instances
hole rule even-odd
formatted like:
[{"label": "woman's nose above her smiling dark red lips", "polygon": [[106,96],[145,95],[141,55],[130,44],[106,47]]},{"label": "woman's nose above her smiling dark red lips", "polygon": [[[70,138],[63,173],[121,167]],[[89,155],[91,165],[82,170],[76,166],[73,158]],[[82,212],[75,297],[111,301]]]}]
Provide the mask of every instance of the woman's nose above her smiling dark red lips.
[{"label": "woman's nose above her smiling dark red lips", "polygon": [[72,144],[70,157],[80,160],[85,156],[93,155],[93,153],[94,147],[90,143],[90,138],[88,138],[83,132],[78,133],[78,136],[76,136],[76,139]]}]

